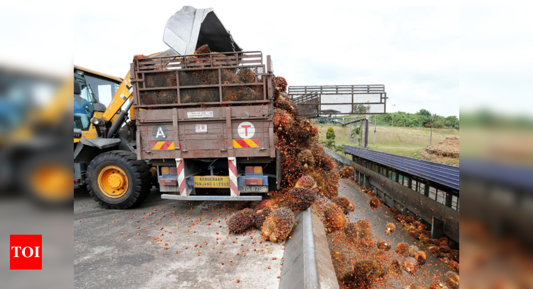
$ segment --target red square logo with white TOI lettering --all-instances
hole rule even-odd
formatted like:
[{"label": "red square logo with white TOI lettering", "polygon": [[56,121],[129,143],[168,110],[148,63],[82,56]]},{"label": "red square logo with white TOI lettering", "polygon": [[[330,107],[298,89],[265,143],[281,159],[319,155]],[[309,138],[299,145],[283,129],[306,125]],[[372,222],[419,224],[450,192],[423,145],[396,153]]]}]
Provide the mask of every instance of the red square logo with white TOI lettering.
[{"label": "red square logo with white TOI lettering", "polygon": [[41,270],[43,235],[9,235],[10,270]]}]

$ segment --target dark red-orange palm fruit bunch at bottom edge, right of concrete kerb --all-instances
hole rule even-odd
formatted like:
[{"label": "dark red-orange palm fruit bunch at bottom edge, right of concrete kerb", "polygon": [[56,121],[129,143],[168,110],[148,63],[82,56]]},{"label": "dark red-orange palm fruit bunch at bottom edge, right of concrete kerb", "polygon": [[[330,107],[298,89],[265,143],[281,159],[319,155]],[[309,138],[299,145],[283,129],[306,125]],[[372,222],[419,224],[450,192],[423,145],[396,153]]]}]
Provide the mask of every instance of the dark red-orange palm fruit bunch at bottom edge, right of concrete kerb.
[{"label": "dark red-orange palm fruit bunch at bottom edge, right of concrete kerb", "polygon": [[356,261],[350,270],[340,276],[340,283],[346,289],[372,288],[375,280],[385,275],[383,265],[376,260]]}]

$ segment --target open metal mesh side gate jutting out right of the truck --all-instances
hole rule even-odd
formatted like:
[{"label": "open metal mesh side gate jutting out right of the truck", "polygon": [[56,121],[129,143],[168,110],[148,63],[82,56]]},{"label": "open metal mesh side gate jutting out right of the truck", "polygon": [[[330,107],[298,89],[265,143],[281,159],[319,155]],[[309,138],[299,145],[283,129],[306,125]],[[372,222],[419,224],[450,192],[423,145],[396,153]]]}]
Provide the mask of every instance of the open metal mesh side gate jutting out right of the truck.
[{"label": "open metal mesh side gate jutting out right of the truck", "polygon": [[289,95],[308,118],[386,113],[384,85],[289,86]]}]

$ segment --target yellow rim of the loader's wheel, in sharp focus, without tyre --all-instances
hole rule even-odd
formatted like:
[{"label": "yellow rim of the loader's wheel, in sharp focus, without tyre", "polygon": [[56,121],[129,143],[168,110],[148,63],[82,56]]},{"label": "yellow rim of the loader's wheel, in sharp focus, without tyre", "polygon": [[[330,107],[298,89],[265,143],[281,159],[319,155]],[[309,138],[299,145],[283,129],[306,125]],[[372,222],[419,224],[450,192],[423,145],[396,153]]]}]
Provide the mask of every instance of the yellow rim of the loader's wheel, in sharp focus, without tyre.
[{"label": "yellow rim of the loader's wheel, in sharp focus, without tyre", "polygon": [[117,199],[126,194],[129,186],[128,177],[123,169],[107,166],[98,174],[98,186],[104,195]]}]

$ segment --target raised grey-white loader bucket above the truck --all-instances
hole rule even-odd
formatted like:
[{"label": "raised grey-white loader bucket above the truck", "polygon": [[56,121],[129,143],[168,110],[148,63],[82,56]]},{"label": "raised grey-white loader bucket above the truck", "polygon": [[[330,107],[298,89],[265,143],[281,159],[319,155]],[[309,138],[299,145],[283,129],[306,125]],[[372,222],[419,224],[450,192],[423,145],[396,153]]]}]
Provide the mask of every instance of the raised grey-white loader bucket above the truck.
[{"label": "raised grey-white loader bucket above the truck", "polygon": [[232,45],[229,31],[224,28],[213,8],[183,6],[165,24],[163,42],[179,55],[194,54],[204,44],[209,45],[213,52],[242,51],[237,43],[233,42]]}]

